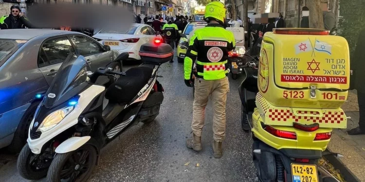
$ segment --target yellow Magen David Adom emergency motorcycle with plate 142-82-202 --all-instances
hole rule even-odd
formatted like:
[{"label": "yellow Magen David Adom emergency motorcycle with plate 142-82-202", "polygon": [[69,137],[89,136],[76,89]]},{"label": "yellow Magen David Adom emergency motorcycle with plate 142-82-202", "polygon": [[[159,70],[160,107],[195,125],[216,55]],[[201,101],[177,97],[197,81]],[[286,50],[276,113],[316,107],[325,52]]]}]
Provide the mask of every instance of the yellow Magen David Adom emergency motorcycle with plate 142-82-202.
[{"label": "yellow Magen David Adom emergency motorcycle with plate 142-82-202", "polygon": [[346,39],[325,30],[274,29],[260,45],[259,61],[245,66],[239,87],[256,181],[338,182],[316,164],[324,155],[342,156],[326,148],[332,129],[347,127]]}]

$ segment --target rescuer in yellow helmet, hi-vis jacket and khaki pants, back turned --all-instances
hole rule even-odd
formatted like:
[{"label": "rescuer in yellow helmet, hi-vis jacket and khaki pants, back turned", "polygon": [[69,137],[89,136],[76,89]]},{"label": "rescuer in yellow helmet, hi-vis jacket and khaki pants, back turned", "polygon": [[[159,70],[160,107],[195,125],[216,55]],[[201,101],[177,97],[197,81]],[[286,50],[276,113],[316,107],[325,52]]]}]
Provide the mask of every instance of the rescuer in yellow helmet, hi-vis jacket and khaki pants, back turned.
[{"label": "rescuer in yellow helmet, hi-vis jacket and khaki pants, back turned", "polygon": [[[220,1],[205,6],[208,25],[195,31],[190,39],[184,59],[184,82],[192,87],[195,75],[195,98],[193,104],[193,136],[186,140],[186,147],[201,150],[201,132],[204,126],[205,107],[211,95],[213,102],[213,156],[222,157],[222,141],[226,130],[226,100],[229,92],[228,52],[235,50],[235,37],[223,28],[226,7]],[[211,11],[207,11],[211,10]],[[196,72],[193,66],[196,61]]]}]

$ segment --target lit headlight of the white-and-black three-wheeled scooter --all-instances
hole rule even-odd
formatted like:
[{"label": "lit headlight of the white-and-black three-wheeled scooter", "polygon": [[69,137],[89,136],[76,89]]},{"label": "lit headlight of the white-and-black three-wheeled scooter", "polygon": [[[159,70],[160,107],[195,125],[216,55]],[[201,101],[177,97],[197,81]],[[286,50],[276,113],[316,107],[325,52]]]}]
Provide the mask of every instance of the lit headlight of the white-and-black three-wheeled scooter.
[{"label": "lit headlight of the white-and-black three-wheeled scooter", "polygon": [[59,122],[62,121],[63,118],[70,114],[72,110],[73,106],[68,106],[51,113],[46,118],[44,118],[42,124],[37,129],[37,132],[46,132],[47,130],[55,127]]}]

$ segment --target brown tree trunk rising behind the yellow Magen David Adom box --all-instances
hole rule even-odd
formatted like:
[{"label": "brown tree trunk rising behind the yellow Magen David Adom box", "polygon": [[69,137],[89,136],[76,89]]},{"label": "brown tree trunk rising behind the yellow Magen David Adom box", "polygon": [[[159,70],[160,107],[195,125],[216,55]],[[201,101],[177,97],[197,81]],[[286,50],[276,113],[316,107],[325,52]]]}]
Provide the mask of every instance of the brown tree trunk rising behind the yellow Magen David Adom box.
[{"label": "brown tree trunk rising behind the yellow Magen David Adom box", "polygon": [[307,0],[307,7],[309,9],[309,27],[324,29],[321,0]]}]

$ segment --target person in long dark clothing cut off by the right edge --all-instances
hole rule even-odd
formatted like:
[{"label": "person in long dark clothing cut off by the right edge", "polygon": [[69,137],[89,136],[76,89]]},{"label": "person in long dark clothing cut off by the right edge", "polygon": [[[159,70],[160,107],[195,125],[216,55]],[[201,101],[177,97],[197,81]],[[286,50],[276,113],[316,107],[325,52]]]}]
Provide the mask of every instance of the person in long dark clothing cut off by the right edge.
[{"label": "person in long dark clothing cut off by the right edge", "polygon": [[350,62],[350,74],[355,78],[354,88],[357,90],[359,103],[359,127],[347,131],[350,135],[365,134],[365,29],[361,30],[353,58]]}]

